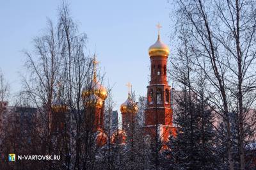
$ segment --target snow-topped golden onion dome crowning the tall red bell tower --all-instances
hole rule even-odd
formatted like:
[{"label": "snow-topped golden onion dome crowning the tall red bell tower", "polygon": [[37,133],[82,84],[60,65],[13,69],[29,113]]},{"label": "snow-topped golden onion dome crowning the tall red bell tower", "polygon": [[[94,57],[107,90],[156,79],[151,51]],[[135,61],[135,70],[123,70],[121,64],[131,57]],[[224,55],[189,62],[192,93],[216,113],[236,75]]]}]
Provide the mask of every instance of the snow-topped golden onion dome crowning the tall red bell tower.
[{"label": "snow-topped golden onion dome crowning the tall red bell tower", "polygon": [[165,45],[163,42],[160,40],[160,36],[158,35],[156,43],[151,45],[148,49],[148,54],[150,57],[152,56],[168,56],[169,55],[169,48],[167,45]]}]

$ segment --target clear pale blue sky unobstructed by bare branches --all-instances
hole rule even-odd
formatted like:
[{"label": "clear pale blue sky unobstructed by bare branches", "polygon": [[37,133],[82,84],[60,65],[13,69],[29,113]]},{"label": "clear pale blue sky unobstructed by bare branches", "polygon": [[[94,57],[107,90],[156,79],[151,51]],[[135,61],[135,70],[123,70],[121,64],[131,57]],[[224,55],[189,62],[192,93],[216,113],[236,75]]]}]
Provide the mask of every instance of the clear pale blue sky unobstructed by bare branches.
[{"label": "clear pale blue sky unobstructed by bare branches", "polygon": [[[56,20],[61,1],[0,0],[0,68],[10,82],[12,95],[20,90],[24,70],[22,50],[32,49],[32,38],[46,26],[47,17]],[[132,83],[137,96],[147,93],[150,59],[148,47],[156,42],[157,22],[161,39],[170,49],[170,12],[167,0],[69,1],[79,31],[88,35],[88,49],[96,44],[100,67],[106,71],[105,86],[113,88],[116,109],[127,98],[125,84]],[[172,56],[172,52],[170,57]]]}]

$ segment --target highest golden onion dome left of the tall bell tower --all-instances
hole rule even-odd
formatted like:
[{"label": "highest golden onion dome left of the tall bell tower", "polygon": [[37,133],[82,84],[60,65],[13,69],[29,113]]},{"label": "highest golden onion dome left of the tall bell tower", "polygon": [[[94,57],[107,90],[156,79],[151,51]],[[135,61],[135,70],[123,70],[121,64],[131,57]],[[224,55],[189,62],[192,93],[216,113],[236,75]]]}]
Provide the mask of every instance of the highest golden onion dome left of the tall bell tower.
[{"label": "highest golden onion dome left of the tall bell tower", "polygon": [[88,97],[93,93],[97,95],[99,98],[101,98],[102,100],[105,100],[108,97],[108,91],[106,90],[106,88],[104,88],[104,86],[102,86],[102,84],[100,84],[96,80],[93,80],[91,89],[83,90],[82,96]]}]

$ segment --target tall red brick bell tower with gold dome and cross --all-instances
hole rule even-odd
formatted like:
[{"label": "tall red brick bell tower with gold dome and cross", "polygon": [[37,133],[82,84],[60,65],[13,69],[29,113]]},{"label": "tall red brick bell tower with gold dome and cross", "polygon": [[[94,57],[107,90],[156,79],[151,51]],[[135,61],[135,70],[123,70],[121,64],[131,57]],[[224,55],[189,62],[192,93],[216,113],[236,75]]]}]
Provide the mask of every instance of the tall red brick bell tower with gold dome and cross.
[{"label": "tall red brick bell tower with gold dome and cross", "polygon": [[[158,29],[161,27],[157,25]],[[145,109],[145,129],[151,137],[168,141],[172,132],[172,107],[170,86],[166,78],[169,48],[161,42],[158,31],[157,42],[148,49],[151,62],[150,84],[147,86],[147,109]]]}]

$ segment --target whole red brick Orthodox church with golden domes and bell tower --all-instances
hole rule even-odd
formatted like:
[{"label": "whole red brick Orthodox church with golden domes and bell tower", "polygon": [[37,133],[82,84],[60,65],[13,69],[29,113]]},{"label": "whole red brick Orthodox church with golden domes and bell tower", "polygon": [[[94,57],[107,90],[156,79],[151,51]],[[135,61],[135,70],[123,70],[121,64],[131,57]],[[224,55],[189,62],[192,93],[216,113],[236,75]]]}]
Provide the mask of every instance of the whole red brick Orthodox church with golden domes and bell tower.
[{"label": "whole red brick Orthodox church with golden domes and bell tower", "polygon": [[[161,139],[163,143],[168,141],[170,134],[175,135],[175,128],[173,127],[173,111],[172,111],[172,98],[171,89],[167,82],[166,66],[169,55],[169,48],[163,42],[161,42],[159,28],[157,41],[151,45],[148,49],[150,57],[150,82],[147,86],[147,107],[144,111],[144,132],[145,137],[152,137],[152,139]],[[108,91],[100,82],[96,76],[97,61],[93,58],[93,81],[90,87],[84,88],[82,98],[84,106],[88,109],[85,116],[87,120],[92,120],[92,131],[95,133],[95,140],[99,146],[104,146],[108,141],[108,136],[104,133],[104,104],[108,96]],[[127,84],[130,88],[131,84]],[[61,130],[64,127],[65,118],[56,118],[58,114],[67,111],[66,107],[63,107],[63,102],[60,98],[52,106],[53,116],[52,120],[57,121],[52,123],[52,132]],[[127,131],[129,127],[137,123],[136,114],[138,113],[138,105],[132,98],[130,90],[128,92],[127,100],[120,105],[120,112],[122,114],[122,129],[115,130],[111,134],[111,143],[116,143],[119,140],[120,143],[125,144],[127,139]]]}]

